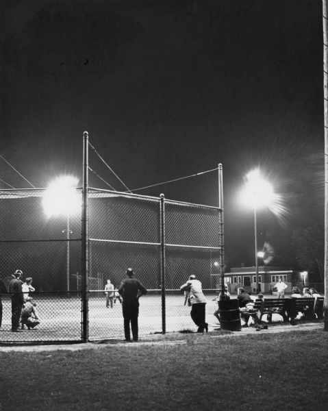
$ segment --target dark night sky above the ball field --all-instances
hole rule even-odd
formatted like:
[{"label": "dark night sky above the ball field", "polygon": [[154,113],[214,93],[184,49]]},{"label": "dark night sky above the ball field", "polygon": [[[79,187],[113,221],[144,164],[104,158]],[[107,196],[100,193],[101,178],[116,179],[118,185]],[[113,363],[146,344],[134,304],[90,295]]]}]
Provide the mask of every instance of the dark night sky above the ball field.
[{"label": "dark night sky above the ball field", "polygon": [[[259,212],[260,246],[293,263],[292,228],[323,221],[321,0],[1,7],[0,153],[31,184],[81,182],[84,130],[131,190],[222,163],[227,256],[251,264],[253,214],[237,197],[260,166],[286,207],[283,221]],[[90,166],[125,190],[92,151]],[[0,173],[30,187],[3,160]],[[90,185],[108,188],[92,175]],[[217,206],[217,187],[215,171],[137,192]]]}]

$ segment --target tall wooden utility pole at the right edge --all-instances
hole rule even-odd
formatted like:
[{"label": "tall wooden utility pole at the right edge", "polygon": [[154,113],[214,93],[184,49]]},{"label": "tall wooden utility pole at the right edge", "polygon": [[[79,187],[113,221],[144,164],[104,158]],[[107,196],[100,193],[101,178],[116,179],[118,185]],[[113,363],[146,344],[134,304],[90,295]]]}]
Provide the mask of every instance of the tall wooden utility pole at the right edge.
[{"label": "tall wooden utility pole at the right edge", "polygon": [[323,97],[325,116],[325,331],[328,331],[328,13],[323,0]]}]

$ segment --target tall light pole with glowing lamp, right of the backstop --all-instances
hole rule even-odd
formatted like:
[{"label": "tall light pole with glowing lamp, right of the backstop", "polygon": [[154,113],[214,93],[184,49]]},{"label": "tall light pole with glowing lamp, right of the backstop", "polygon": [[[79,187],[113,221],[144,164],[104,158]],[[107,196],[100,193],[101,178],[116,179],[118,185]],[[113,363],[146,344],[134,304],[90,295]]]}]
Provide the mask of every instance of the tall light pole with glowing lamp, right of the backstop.
[{"label": "tall light pole with glowing lamp, right of the backstop", "polygon": [[262,206],[268,206],[270,201],[273,200],[273,186],[261,177],[259,169],[250,171],[247,174],[243,197],[244,201],[254,210],[256,292],[260,292],[258,266],[259,256],[257,251],[257,209]]}]

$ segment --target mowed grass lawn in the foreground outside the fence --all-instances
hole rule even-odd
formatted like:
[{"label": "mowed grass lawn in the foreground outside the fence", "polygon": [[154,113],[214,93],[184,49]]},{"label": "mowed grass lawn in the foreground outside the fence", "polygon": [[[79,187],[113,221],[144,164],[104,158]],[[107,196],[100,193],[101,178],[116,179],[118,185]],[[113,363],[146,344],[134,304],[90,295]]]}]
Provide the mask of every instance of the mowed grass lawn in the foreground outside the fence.
[{"label": "mowed grass lawn in the foreground outside the fence", "polygon": [[1,410],[327,410],[323,329],[0,351]]}]

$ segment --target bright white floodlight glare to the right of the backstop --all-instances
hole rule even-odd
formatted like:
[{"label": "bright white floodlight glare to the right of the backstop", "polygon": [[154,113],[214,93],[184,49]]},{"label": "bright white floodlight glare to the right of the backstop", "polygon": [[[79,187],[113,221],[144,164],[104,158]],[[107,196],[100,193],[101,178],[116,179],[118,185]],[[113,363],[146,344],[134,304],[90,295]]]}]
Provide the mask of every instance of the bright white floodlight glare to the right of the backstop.
[{"label": "bright white floodlight glare to the right of the backstop", "polygon": [[252,208],[268,206],[275,197],[273,186],[262,179],[259,169],[248,173],[246,178],[246,186],[242,191],[242,201]]}]

